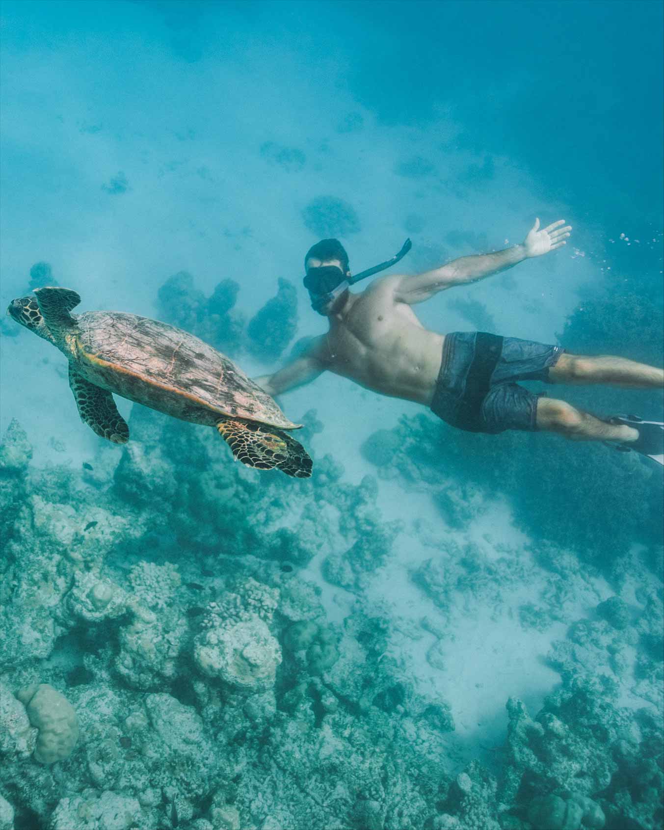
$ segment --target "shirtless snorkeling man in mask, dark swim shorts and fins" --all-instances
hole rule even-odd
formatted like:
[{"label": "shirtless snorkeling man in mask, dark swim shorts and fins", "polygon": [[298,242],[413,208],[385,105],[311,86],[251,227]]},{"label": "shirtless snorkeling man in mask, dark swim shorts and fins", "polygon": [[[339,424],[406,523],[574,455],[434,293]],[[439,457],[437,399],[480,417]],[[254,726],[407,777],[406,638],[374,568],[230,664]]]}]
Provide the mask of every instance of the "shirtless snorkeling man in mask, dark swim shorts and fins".
[{"label": "shirtless snorkeling man in mask, dark swim shorts and fins", "polygon": [[579,441],[612,442],[664,463],[662,424],[634,416],[602,420],[517,383],[662,388],[664,370],[610,355],[568,354],[558,345],[484,332],[438,334],[425,329],[413,311],[413,305],[439,291],[482,280],[563,247],[571,230],[563,219],[540,229],[537,219],[521,245],[461,256],[416,276],[383,276],[359,294],[351,293],[349,286],[398,261],[410,241],[392,260],[353,277],[341,243],[321,240],[307,251],[304,282],[312,307],[328,318],[330,329],[290,364],[256,378],[256,383],[279,395],[327,370],[374,392],[422,403],[443,421],[470,432],[558,432]]}]

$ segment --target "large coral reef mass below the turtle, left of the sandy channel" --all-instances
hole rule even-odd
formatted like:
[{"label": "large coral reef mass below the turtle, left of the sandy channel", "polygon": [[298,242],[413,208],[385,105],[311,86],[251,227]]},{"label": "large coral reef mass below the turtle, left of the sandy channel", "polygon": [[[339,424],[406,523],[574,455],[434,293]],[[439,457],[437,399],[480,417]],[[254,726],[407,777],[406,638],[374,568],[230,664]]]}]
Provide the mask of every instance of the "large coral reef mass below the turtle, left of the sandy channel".
[{"label": "large coral reef mass below the turtle, left of the sandy channel", "polygon": [[[315,413],[302,420],[320,430]],[[431,806],[394,758],[415,769],[425,745],[442,754],[450,727],[432,707],[444,705],[419,700],[378,661],[385,621],[342,630],[297,574],[335,549],[355,548],[361,573],[389,558],[394,528],[375,481],[344,484],[329,457],[313,488],[266,481],[228,463],[207,431],[138,407],[129,422],[134,449],[88,483],[29,466],[16,422],[0,449],[0,793],[11,805],[0,807],[20,827],[62,830],[390,815],[420,827]],[[360,550],[364,535],[375,544]],[[33,720],[37,730],[15,696],[36,706],[46,690],[80,730],[74,744],[70,723],[48,759],[51,721]]]}]

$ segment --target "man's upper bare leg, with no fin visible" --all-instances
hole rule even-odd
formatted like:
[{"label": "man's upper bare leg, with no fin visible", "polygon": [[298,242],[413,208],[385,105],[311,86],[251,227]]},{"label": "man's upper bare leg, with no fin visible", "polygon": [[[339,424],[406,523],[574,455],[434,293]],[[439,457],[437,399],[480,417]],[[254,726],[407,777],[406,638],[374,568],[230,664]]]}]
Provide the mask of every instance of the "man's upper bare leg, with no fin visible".
[{"label": "man's upper bare leg, with no fin visible", "polygon": [[664,386],[664,369],[608,354],[587,357],[583,354],[564,352],[555,366],[549,369],[549,381],[551,383],[607,383],[610,386],[653,389]]}]

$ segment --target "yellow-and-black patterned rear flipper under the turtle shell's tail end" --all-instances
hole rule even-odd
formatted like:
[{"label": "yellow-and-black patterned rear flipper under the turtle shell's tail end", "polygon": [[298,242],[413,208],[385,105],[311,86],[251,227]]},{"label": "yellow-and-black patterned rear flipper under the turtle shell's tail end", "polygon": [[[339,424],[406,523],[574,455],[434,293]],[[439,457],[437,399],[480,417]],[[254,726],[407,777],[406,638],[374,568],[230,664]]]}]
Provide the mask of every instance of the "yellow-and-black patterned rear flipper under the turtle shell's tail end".
[{"label": "yellow-and-black patterned rear flipper under the turtle shell's tail end", "polygon": [[302,445],[281,429],[241,418],[220,418],[217,430],[237,461],[258,470],[275,468],[294,478],[309,478],[311,459]]}]

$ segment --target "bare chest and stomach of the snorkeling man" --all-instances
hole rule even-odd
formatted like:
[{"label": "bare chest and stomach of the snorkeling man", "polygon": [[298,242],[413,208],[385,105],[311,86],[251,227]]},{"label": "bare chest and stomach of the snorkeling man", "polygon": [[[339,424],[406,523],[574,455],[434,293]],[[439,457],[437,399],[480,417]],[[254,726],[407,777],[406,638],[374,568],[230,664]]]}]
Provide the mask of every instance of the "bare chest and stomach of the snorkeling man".
[{"label": "bare chest and stomach of the snorkeling man", "polygon": [[334,374],[393,398],[431,403],[444,336],[427,331],[410,305],[394,299],[403,277],[376,280],[349,295],[330,331],[316,339],[315,357]]}]

